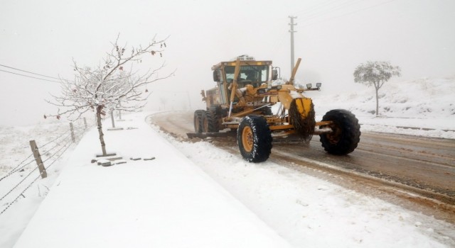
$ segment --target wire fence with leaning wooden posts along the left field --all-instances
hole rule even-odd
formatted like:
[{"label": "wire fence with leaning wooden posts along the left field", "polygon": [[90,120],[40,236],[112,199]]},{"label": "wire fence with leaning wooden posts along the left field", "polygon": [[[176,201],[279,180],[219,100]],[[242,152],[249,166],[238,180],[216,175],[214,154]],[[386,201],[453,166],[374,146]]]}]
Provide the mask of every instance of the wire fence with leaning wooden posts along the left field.
[{"label": "wire fence with leaning wooden posts along the left field", "polygon": [[[38,154],[41,153],[39,161],[41,161],[45,170],[53,166],[55,162],[58,162],[58,159],[60,159],[60,157],[62,157],[73,144],[79,142],[80,138],[90,128],[86,125],[86,121],[84,121],[82,125],[80,124],[81,123],[78,123],[77,126],[73,126],[71,123],[71,128],[68,127],[68,130],[65,132],[58,133],[44,145],[36,147]],[[31,150],[33,150],[33,147]],[[41,158],[43,158],[43,160],[41,160]],[[33,153],[32,151],[31,154],[26,156],[24,159],[21,159],[21,162],[14,165],[5,176],[0,178],[0,187],[9,187],[9,190],[2,191],[0,194],[0,205],[4,206],[0,215],[8,210],[11,205],[16,203],[21,196],[25,198],[24,193],[28,190],[28,188],[31,188],[31,186],[33,186],[33,184],[35,184],[36,181],[42,177],[41,171],[36,172],[39,168],[39,164],[37,163],[38,159],[36,158],[36,153]],[[21,172],[26,172],[26,174],[22,174]],[[1,186],[1,184],[6,186]]]}]

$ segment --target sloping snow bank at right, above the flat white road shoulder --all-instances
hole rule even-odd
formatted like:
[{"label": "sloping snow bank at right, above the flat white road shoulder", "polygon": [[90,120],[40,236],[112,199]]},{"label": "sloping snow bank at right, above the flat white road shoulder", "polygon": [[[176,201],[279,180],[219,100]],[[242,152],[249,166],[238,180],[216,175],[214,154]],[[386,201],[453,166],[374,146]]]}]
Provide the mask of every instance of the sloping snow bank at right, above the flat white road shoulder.
[{"label": "sloping snow bank at right, above the flat white road shoulder", "polygon": [[[379,89],[380,115],[397,118],[446,118],[455,115],[455,79],[416,79],[389,81]],[[364,86],[360,91],[338,94],[311,92],[316,106],[346,108],[360,115],[373,115],[375,89]]]}]

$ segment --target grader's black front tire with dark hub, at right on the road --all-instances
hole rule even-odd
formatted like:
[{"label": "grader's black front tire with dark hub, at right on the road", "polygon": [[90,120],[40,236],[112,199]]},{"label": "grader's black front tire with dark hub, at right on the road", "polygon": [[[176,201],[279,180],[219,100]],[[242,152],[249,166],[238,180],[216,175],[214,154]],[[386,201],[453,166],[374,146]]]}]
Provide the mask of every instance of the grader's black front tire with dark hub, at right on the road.
[{"label": "grader's black front tire with dark hub, at right on the road", "polygon": [[353,152],[360,142],[360,125],[350,111],[334,109],[323,116],[322,121],[331,120],[331,125],[320,128],[331,128],[332,133],[323,133],[322,147],[330,154],[343,155]]}]

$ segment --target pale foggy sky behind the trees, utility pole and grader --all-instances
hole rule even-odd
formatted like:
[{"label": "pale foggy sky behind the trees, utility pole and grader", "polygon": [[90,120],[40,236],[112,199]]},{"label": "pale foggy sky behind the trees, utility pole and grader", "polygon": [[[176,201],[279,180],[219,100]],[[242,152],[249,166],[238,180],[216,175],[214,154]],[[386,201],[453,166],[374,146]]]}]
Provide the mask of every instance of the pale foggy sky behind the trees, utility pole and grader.
[{"label": "pale foggy sky behind the trees, utility pole and grader", "polygon": [[[147,108],[203,108],[200,90],[215,86],[210,67],[237,55],[272,60],[289,78],[288,16],[297,16],[294,56],[302,62],[296,80],[321,81],[320,94],[365,87],[354,84],[352,74],[368,60],[402,68],[391,84],[455,76],[452,0],[5,1],[0,65],[72,79],[73,59],[100,64],[118,34],[128,45],[145,45],[156,36],[167,47],[149,65],[166,62],[160,74],[176,72],[148,86]],[[44,99],[58,94],[58,83],[0,71],[0,86],[0,125],[44,122],[43,114],[57,111]]]}]

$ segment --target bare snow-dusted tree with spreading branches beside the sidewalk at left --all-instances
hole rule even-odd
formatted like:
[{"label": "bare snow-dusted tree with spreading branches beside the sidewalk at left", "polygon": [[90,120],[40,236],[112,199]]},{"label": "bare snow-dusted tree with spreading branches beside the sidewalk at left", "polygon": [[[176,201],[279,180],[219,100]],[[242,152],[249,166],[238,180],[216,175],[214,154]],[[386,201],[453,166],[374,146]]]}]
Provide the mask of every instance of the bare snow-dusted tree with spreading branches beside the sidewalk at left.
[{"label": "bare snow-dusted tree with spreading branches beside the sidewalk at left", "polygon": [[59,107],[56,115],[50,115],[59,119],[60,115],[68,115],[68,119],[77,120],[87,111],[94,111],[103,155],[107,152],[102,133],[102,115],[114,109],[139,110],[149,96],[148,91],[142,86],[173,75],[171,72],[165,77],[157,76],[164,63],[141,74],[133,70],[133,65],[141,62],[143,56],[162,57],[166,47],[165,40],[153,39],[145,47],[130,48],[127,48],[127,45],[119,45],[118,40],[117,36],[102,65],[93,68],[80,67],[73,60],[75,79],[73,81],[62,79],[60,96],[53,96],[53,101],[48,101]]}]

